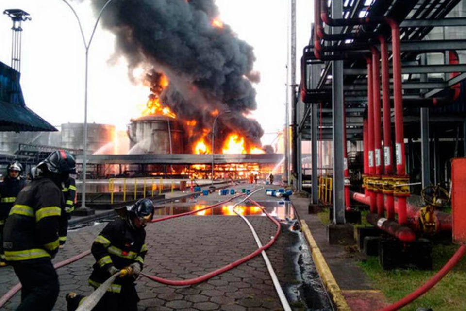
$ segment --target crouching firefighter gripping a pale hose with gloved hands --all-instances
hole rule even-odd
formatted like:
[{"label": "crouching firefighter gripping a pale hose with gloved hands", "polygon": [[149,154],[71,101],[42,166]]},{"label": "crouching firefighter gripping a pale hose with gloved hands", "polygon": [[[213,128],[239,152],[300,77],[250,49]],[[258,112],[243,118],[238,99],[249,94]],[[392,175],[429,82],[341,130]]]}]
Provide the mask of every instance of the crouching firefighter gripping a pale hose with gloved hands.
[{"label": "crouching firefighter gripping a pale hose with gloved hands", "polygon": [[[89,284],[96,289],[110,276],[121,274],[92,309],[94,311],[137,311],[139,297],[134,281],[144,265],[147,253],[144,227],[152,220],[154,205],[149,199],[141,199],[132,207],[117,211],[121,219],[106,225],[92,244],[96,263]],[[68,311],[76,310],[85,298],[76,293],[67,294]]]}]

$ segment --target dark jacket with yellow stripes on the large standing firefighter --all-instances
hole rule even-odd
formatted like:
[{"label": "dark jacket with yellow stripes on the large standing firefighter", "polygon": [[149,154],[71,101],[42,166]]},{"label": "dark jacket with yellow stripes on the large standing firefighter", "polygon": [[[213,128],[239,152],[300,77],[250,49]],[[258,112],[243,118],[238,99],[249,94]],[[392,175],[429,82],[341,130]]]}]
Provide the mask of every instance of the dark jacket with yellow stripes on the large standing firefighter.
[{"label": "dark jacket with yellow stripes on the large standing firefighter", "polygon": [[51,258],[58,252],[63,195],[49,178],[41,177],[19,192],[3,229],[7,261]]}]

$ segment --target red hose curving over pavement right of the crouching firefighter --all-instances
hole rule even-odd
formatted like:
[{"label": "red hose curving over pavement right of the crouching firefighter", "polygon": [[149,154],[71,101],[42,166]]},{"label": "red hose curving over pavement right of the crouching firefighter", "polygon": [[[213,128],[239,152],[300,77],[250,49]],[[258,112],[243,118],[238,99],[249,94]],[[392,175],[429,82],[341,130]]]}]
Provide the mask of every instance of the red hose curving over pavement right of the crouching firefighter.
[{"label": "red hose curving over pavement right of the crouching firefighter", "polygon": [[[250,199],[250,201],[253,203],[253,204],[256,204],[258,206],[260,206],[257,202],[255,202],[254,200]],[[254,252],[250,253],[248,256],[246,257],[243,257],[242,259],[239,259],[239,260],[236,260],[230,264],[227,264],[225,266],[223,266],[222,268],[219,268],[215,271],[212,271],[212,272],[209,272],[203,276],[199,276],[199,277],[195,277],[195,278],[191,278],[191,279],[187,279],[187,280],[168,280],[168,279],[165,279],[165,278],[161,278],[161,277],[158,277],[158,276],[149,276],[147,274],[144,274],[142,273],[143,276],[146,276],[147,278],[150,278],[151,280],[153,281],[156,281],[156,282],[159,282],[159,283],[162,283],[162,284],[166,284],[166,285],[174,285],[174,286],[185,286],[185,285],[192,285],[192,284],[197,284],[197,283],[200,283],[202,281],[205,281],[211,277],[214,277],[214,276],[217,276],[225,271],[228,271],[252,258],[254,258],[255,256],[259,255],[263,250],[266,250],[267,248],[269,248],[270,246],[272,246],[272,244],[275,242],[275,240],[277,239],[278,235],[280,234],[280,223],[274,219],[266,210],[265,208],[262,209],[264,211],[264,213],[266,214],[266,216],[277,226],[277,230],[275,231],[275,235],[272,237],[272,239],[270,239],[270,241],[256,249]],[[199,211],[199,210],[198,210]]]}]

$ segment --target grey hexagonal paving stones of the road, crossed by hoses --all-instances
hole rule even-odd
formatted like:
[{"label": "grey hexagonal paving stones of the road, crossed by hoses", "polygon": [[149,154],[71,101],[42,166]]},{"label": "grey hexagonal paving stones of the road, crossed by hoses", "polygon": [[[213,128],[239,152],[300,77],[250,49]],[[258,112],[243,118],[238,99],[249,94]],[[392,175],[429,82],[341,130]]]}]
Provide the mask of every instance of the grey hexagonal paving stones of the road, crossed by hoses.
[{"label": "grey hexagonal paving stones of the road, crossed by hoses", "polygon": [[[275,233],[276,226],[266,217],[249,216],[248,219],[262,243],[266,244]],[[97,224],[70,231],[65,248],[54,262],[89,249],[104,226]],[[248,226],[237,216],[186,216],[151,224],[146,229],[149,252],[144,272],[168,279],[201,276],[257,249]],[[306,287],[298,286],[302,274],[298,261],[302,261],[300,252],[308,252],[307,248],[301,248],[300,241],[300,232],[290,230],[289,225],[284,224],[279,239],[267,250],[267,255],[294,310],[304,310],[306,305],[312,305],[312,310],[329,310],[330,305],[325,301],[315,271],[310,273],[313,278],[312,291],[320,294],[313,297],[300,295],[300,291]],[[66,310],[65,295],[70,291],[91,293],[87,278],[93,263],[93,257],[87,256],[58,270],[60,295],[54,310]],[[0,269],[0,295],[16,283],[17,277],[11,267]],[[167,286],[143,276],[136,284],[141,311],[282,310],[261,256],[192,286]],[[14,310],[19,299],[18,293],[5,305],[5,310]],[[309,303],[309,300],[314,301]]]}]

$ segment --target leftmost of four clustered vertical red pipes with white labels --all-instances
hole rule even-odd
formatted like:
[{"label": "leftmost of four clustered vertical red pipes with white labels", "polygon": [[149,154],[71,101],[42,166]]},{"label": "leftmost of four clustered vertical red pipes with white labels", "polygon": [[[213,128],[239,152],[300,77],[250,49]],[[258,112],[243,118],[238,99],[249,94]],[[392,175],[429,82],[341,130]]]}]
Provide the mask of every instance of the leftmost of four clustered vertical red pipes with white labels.
[{"label": "leftmost of four clustered vertical red pipes with white labels", "polygon": [[[372,60],[370,57],[367,60],[367,140],[368,140],[368,159],[369,159],[369,176],[374,176],[374,111],[373,111],[373,87],[372,87]],[[370,212],[376,212],[376,196],[375,192],[369,190],[370,196]]]}]

